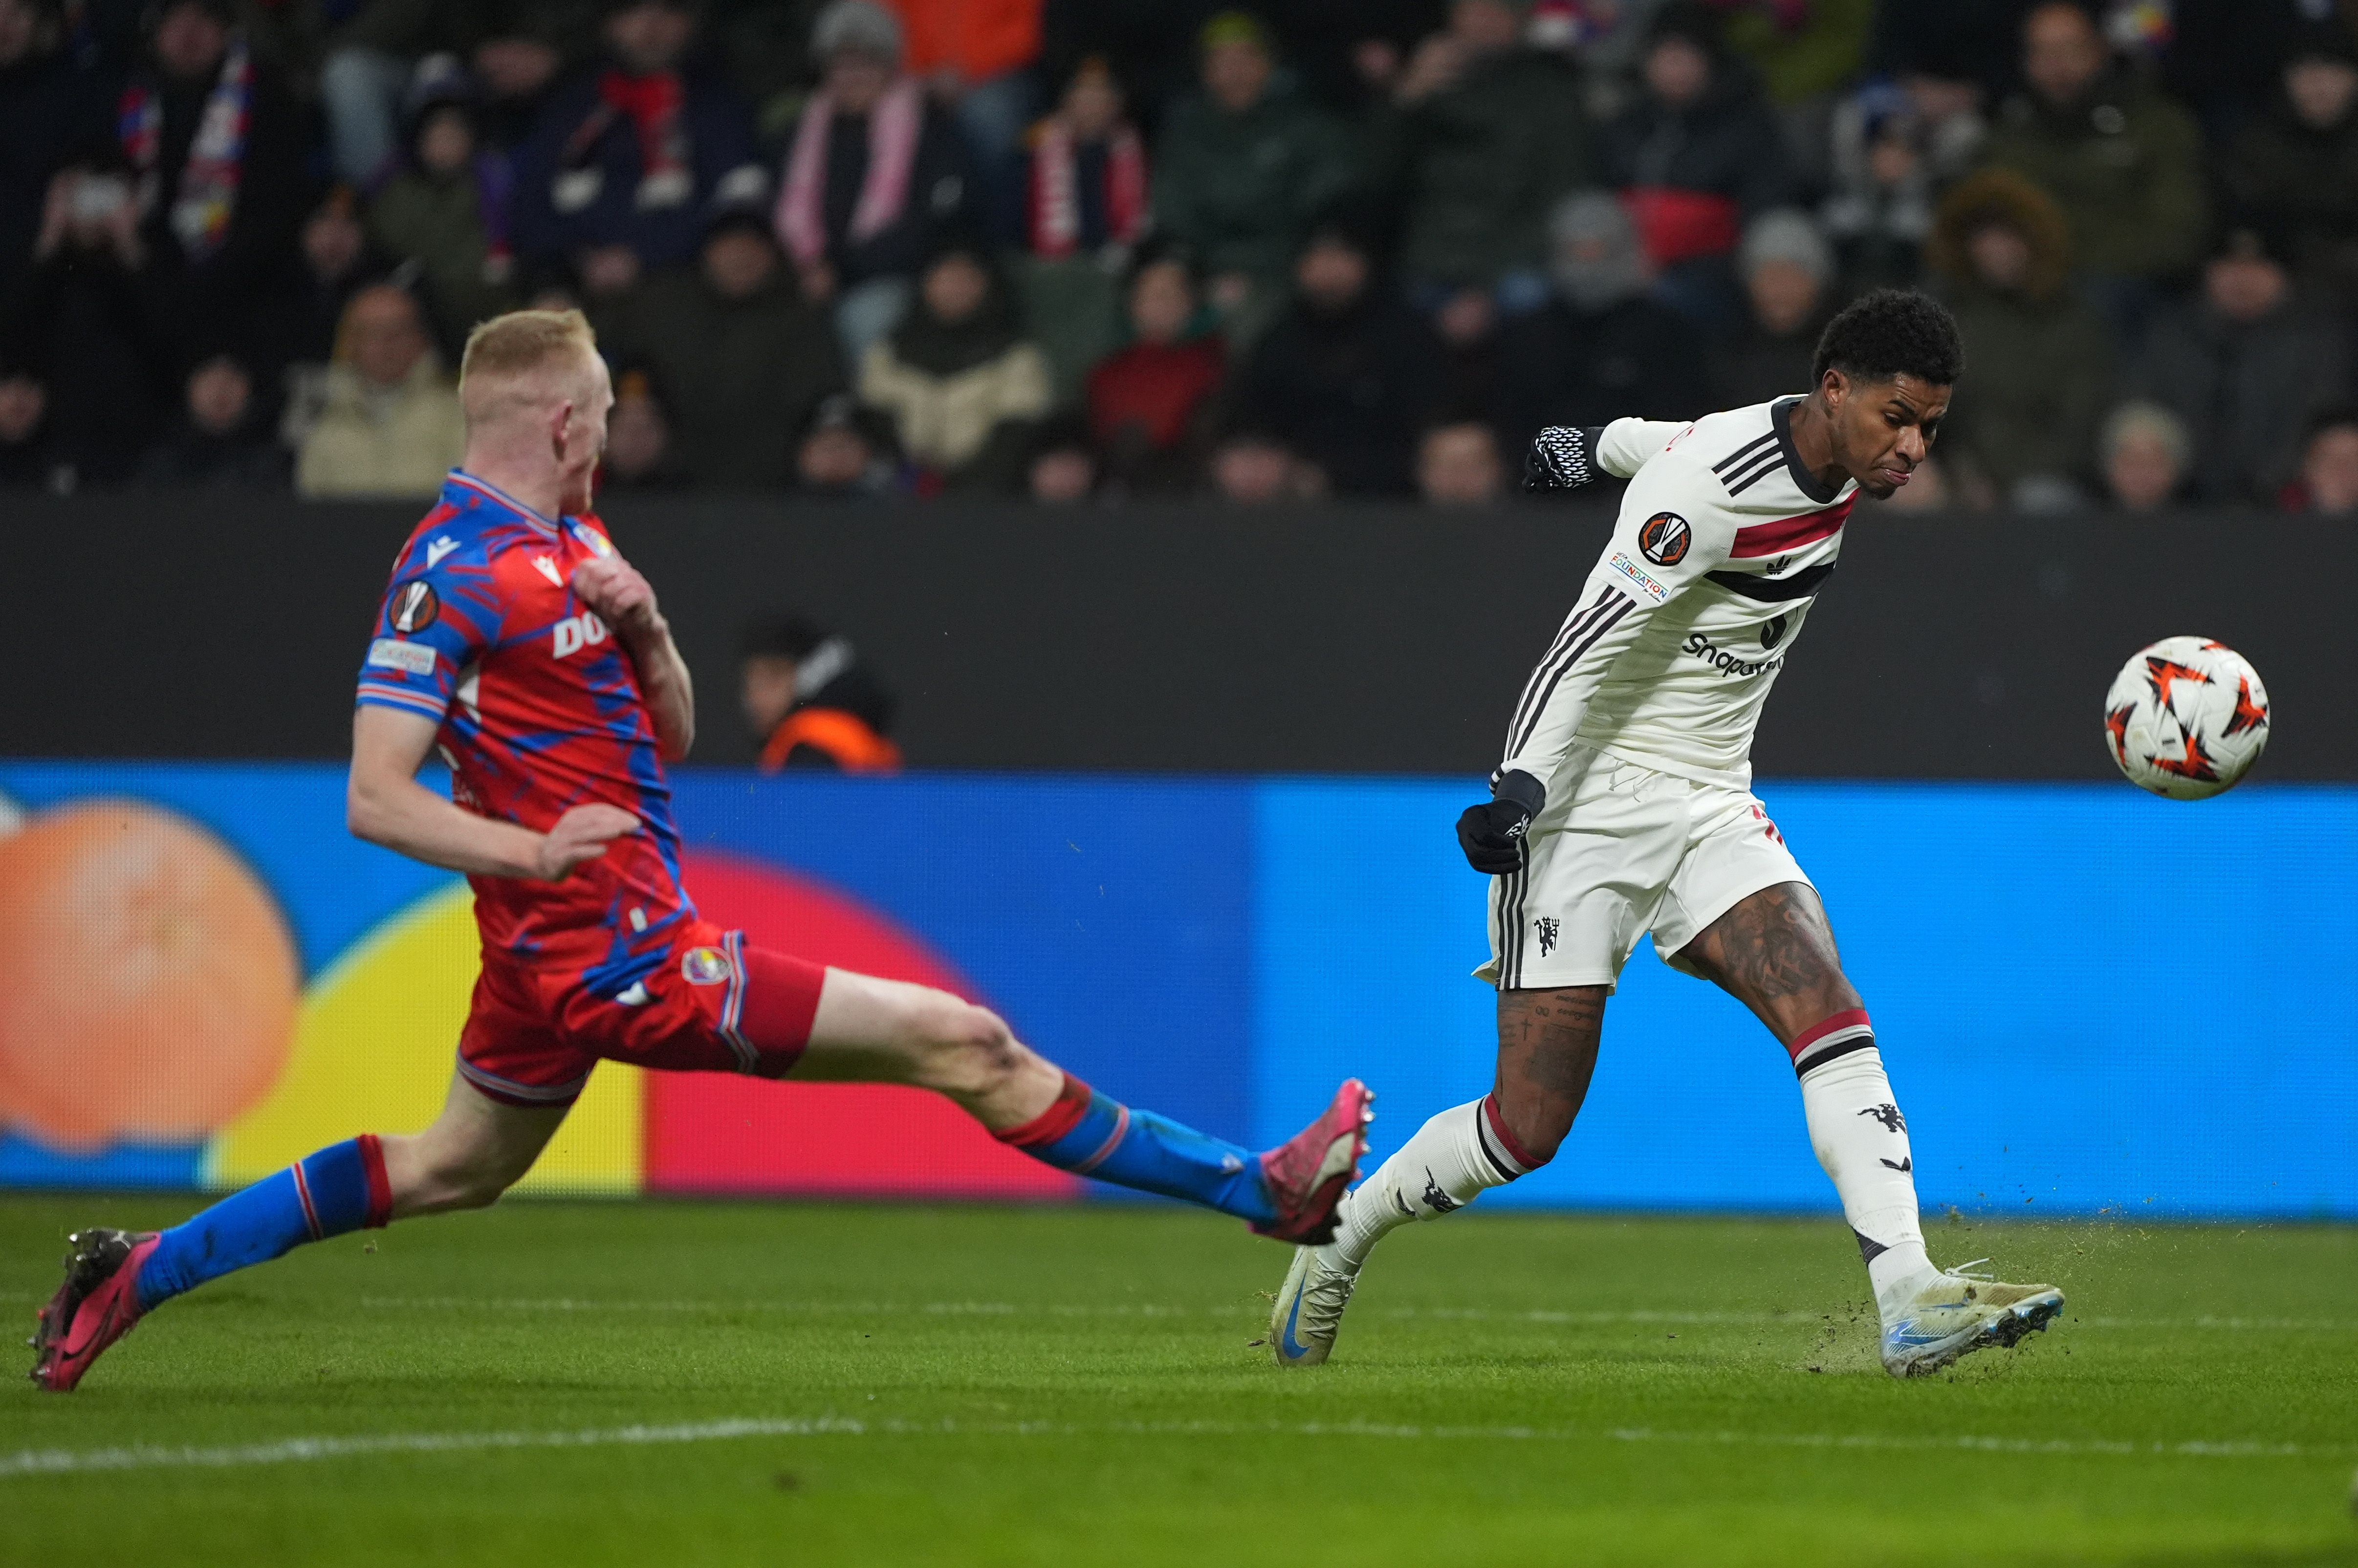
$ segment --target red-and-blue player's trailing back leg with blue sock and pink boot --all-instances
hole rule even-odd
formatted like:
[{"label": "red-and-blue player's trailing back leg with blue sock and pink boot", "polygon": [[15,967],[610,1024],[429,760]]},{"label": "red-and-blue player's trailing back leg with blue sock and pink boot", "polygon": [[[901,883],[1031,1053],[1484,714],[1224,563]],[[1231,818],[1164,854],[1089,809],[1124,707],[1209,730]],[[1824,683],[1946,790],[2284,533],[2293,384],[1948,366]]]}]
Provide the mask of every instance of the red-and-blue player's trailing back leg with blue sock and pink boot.
[{"label": "red-and-blue player's trailing back leg with blue sock and pink boot", "polygon": [[302,1243],[410,1214],[483,1207],[533,1167],[564,1118],[564,1108],[488,1101],[453,1078],[441,1118],[415,1137],[330,1144],[170,1231],[75,1231],[66,1283],[26,1342],[33,1382],[52,1394],[73,1391],[146,1313]]}]

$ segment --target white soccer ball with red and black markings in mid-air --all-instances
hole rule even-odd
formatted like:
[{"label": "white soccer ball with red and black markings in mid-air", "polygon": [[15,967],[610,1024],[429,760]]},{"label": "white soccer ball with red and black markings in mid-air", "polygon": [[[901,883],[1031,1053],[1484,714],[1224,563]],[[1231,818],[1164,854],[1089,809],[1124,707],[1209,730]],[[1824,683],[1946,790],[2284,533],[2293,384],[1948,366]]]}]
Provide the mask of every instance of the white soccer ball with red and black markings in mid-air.
[{"label": "white soccer ball with red and black markings in mid-air", "polygon": [[2103,747],[2139,790],[2205,799],[2235,785],[2268,747],[2268,689],[2242,653],[2207,637],[2165,637],[2103,693]]}]

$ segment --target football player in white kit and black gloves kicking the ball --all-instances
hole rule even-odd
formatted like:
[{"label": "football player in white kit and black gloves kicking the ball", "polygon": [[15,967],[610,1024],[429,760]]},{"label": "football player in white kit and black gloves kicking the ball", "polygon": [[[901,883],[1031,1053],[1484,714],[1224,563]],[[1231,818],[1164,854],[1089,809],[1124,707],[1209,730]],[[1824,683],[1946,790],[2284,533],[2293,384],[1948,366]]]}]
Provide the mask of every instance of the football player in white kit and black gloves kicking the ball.
[{"label": "football player in white kit and black gloves kicking the ball", "polygon": [[1806,396],[1693,424],[1549,429],[1535,488],[1629,479],[1613,540],[1514,705],[1490,799],[1457,821],[1490,872],[1497,1080],[1424,1122],[1299,1247],[1269,1342],[1280,1365],[1335,1346],[1368,1252],[1554,1158],[1589,1089],[1606,997],[1639,938],[1750,1007],[1792,1056],[1818,1162],[1835,1179],[1893,1377],[2009,1346],[2063,1309],[1924,1254],[1915,1158],[1842,974],[1825,908],[1752,795],[1752,729],[1835,571],[1860,490],[1924,462],[1962,370],[1924,295],[1865,295],[1825,328]]}]

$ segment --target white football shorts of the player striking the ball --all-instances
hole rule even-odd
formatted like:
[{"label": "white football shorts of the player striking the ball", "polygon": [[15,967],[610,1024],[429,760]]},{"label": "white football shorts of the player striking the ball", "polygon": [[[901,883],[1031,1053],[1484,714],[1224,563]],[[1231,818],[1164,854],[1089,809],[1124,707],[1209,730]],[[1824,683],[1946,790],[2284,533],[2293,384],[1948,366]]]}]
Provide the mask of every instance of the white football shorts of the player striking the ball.
[{"label": "white football shorts of the player striking the ball", "polygon": [[1731,908],[1809,877],[1750,790],[1575,747],[1526,839],[1523,870],[1490,877],[1500,990],[1620,983],[1636,938],[1665,962]]}]

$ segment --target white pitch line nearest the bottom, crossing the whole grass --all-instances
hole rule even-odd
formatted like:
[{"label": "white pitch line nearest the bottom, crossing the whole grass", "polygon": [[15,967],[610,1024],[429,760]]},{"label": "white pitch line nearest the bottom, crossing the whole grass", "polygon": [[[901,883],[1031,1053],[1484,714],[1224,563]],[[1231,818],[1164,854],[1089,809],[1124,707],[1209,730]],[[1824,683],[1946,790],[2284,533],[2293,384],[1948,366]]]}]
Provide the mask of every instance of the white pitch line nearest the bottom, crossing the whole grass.
[{"label": "white pitch line nearest the bottom, crossing the whole grass", "polygon": [[1988,1452],[1988,1455],[2099,1455],[2158,1460],[2325,1460],[2358,1452],[2353,1445],[2304,1445],[2259,1441],[2108,1441],[2108,1438],[2002,1438],[2002,1436],[1889,1436],[1889,1434],[1761,1434],[1761,1431],[1655,1431],[1651,1427],[1415,1427],[1377,1422],[858,1422],[818,1417],[738,1417],[674,1427],[592,1427],[582,1431],[389,1431],[358,1436],[281,1438],[233,1448],[28,1448],[0,1455],[0,1481],[26,1476],[75,1476],[132,1469],[248,1469],[262,1464],[309,1464],[363,1455],[446,1455],[535,1448],[644,1448],[663,1443],[722,1443],[740,1438],[861,1438],[861,1436],[1179,1436],[1179,1438],[1408,1438],[1474,1443],[1700,1443],[1714,1448],[1823,1448],[1891,1452]]}]

